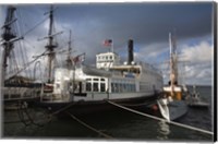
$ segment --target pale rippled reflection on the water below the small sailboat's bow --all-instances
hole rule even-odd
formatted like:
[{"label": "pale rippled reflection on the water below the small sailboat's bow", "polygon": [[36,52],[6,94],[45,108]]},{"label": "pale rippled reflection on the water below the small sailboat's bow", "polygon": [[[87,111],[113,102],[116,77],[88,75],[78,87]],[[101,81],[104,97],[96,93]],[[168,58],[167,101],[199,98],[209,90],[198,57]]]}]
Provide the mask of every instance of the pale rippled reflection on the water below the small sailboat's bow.
[{"label": "pale rippled reflection on the water below the small sailboat's bow", "polygon": [[157,128],[157,139],[158,140],[168,140],[168,135],[170,134],[170,125],[166,123],[164,120],[158,122]]}]

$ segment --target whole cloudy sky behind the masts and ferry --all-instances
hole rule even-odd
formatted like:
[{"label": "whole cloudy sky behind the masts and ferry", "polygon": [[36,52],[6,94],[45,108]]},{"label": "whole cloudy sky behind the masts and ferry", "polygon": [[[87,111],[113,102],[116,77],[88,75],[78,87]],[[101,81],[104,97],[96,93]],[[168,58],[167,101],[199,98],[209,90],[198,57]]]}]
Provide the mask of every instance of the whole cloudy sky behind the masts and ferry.
[{"label": "whole cloudy sky behind the masts and ferry", "polygon": [[[48,17],[49,4],[17,4],[17,22],[23,34]],[[114,51],[126,61],[128,40],[134,40],[135,61],[154,64],[169,80],[169,33],[177,35],[177,51],[181,81],[185,84],[211,85],[214,72],[214,33],[211,2],[135,2],[135,3],[73,3],[55,4],[57,50],[68,48],[72,31],[74,56],[86,52],[85,62],[95,64],[96,55],[109,51],[102,45],[112,39]],[[7,5],[0,5],[0,25],[5,19]],[[26,53],[45,51],[48,20],[24,36]],[[2,32],[1,32],[2,33]],[[22,34],[22,33],[21,33]],[[64,60],[62,56],[62,61]],[[45,59],[41,59],[45,61]]]}]

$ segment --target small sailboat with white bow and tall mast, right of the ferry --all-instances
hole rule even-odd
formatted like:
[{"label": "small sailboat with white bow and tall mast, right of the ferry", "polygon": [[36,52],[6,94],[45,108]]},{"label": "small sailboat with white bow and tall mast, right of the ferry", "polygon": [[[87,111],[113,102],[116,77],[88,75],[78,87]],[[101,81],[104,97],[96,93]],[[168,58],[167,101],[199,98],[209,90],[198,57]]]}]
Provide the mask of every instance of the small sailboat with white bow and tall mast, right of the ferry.
[{"label": "small sailboat with white bow and tall mast, right of the ferry", "polygon": [[170,33],[170,81],[164,86],[164,95],[157,100],[162,118],[168,121],[179,119],[187,112],[186,103],[183,100],[186,88],[178,83],[178,57],[174,40]]}]

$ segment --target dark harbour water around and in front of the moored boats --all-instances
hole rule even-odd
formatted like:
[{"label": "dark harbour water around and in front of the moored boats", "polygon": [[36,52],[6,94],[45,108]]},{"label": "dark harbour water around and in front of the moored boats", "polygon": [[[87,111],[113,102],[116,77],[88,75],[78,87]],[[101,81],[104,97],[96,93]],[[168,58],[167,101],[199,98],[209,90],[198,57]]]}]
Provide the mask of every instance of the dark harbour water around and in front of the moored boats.
[{"label": "dark harbour water around and in front of the moored boats", "polygon": [[[191,88],[191,87],[190,87]],[[211,87],[196,87],[203,100],[211,104]],[[210,105],[211,106],[211,105]],[[70,117],[53,118],[48,122],[46,112],[39,108],[28,109],[34,113],[35,124],[25,125],[19,120],[17,112],[7,111],[3,124],[4,137],[15,139],[59,139],[59,140],[106,140],[101,135],[88,130]],[[213,136],[162,121],[156,121],[142,117],[120,108],[112,111],[97,112],[92,115],[77,115],[77,118],[97,130],[112,136],[116,140],[128,141],[179,141],[179,142],[211,142]],[[209,109],[189,108],[189,112],[178,122],[213,131],[211,107]],[[10,121],[14,121],[10,123]]]}]

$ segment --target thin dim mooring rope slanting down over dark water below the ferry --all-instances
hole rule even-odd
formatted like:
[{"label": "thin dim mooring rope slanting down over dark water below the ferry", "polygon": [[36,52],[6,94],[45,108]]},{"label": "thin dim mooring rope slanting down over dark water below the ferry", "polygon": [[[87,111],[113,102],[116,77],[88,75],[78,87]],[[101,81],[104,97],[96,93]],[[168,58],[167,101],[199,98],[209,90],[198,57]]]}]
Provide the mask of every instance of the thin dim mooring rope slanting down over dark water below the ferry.
[{"label": "thin dim mooring rope slanting down over dark water below the ferry", "polygon": [[107,137],[107,139],[113,139],[112,136],[108,135],[108,134],[105,134],[102,133],[101,131],[88,125],[87,123],[83,122],[82,120],[80,120],[78,118],[76,118],[75,116],[73,116],[72,113],[70,113],[69,111],[66,111],[66,113],[73,118],[74,120],[76,120],[78,123],[83,124],[84,127],[86,127],[87,129],[98,133],[99,135],[104,136],[104,137]]}]

